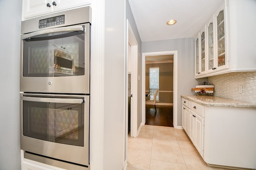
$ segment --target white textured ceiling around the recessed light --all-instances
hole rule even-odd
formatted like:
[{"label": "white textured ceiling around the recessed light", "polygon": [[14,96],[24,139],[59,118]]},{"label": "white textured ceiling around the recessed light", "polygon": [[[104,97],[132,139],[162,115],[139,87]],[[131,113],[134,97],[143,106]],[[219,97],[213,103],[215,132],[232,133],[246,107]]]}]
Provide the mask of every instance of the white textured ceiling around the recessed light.
[{"label": "white textured ceiling around the recessed light", "polygon": [[[142,42],[194,37],[223,0],[128,0]],[[167,25],[168,20],[177,20]]]}]

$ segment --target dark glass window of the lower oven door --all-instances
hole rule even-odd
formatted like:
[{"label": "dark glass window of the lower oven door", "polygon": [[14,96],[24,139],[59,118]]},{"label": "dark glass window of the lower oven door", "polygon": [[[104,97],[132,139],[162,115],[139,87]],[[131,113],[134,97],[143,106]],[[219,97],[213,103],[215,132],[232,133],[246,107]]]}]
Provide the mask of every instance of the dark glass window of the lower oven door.
[{"label": "dark glass window of the lower oven door", "polygon": [[84,103],[23,101],[23,135],[84,146]]}]

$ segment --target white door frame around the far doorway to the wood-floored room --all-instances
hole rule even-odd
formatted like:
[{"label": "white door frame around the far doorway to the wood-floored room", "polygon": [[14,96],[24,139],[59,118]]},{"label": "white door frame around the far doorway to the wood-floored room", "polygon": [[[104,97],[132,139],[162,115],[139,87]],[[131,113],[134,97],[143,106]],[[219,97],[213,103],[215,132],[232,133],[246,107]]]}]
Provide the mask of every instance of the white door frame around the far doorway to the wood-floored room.
[{"label": "white door frame around the far doorway to the wood-floored room", "polygon": [[142,124],[146,123],[146,56],[174,55],[173,57],[173,126],[178,127],[178,51],[159,51],[142,53]]}]

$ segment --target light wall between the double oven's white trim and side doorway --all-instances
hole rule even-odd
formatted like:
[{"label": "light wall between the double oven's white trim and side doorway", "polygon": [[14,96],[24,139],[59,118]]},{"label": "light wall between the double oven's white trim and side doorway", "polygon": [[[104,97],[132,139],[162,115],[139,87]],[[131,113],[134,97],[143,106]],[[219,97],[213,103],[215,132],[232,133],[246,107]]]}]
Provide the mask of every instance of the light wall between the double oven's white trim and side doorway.
[{"label": "light wall between the double oven's white trim and side doorway", "polygon": [[104,170],[122,170],[125,150],[125,0],[105,0],[104,17],[103,164]]}]

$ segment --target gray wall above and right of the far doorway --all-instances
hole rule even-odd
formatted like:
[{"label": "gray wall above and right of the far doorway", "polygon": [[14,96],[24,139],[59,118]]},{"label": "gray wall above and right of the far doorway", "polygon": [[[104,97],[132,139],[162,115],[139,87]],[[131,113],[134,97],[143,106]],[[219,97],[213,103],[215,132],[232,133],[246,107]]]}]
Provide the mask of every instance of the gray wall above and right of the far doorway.
[{"label": "gray wall above and right of the far doorway", "polygon": [[182,94],[192,94],[198,82],[206,79],[194,79],[194,38],[169,39],[142,42],[142,53],[159,51],[178,51],[178,126],[181,126]]}]

